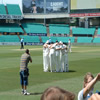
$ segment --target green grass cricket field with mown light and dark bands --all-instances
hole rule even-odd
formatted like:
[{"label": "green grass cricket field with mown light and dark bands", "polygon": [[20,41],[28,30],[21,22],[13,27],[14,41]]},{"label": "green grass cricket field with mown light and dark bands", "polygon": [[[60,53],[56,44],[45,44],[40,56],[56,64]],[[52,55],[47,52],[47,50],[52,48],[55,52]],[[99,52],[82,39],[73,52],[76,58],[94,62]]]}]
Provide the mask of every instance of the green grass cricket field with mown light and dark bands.
[{"label": "green grass cricket field with mown light and dark bands", "polygon": [[[95,76],[100,69],[99,46],[74,46],[69,53],[69,72],[43,72],[42,46],[25,46],[30,49],[32,63],[29,63],[30,76],[28,91],[30,96],[21,95],[19,79],[20,57],[24,50],[20,46],[0,46],[0,100],[40,100],[43,91],[49,86],[59,86],[77,94],[82,89],[86,72]],[[32,50],[34,49],[34,50]],[[100,83],[95,90],[100,90]],[[77,100],[77,99],[76,99]]]}]

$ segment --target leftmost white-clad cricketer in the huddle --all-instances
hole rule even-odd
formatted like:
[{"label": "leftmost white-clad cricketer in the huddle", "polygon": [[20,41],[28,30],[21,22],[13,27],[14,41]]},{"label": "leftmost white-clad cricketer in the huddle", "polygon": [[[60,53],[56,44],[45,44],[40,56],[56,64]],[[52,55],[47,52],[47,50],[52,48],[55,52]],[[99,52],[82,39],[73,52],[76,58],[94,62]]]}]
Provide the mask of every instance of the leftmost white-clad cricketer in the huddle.
[{"label": "leftmost white-clad cricketer in the huddle", "polygon": [[43,70],[47,72],[49,69],[49,41],[43,45]]}]

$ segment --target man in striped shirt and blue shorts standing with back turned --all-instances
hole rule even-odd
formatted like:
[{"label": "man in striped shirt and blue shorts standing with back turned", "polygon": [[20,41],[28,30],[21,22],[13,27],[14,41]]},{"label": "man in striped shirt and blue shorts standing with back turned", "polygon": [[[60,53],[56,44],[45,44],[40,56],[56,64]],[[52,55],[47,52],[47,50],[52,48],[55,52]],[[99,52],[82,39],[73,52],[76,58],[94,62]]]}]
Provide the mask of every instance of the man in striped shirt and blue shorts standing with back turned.
[{"label": "man in striped shirt and blue shorts standing with back turned", "polygon": [[32,63],[32,58],[30,56],[29,50],[26,49],[25,53],[22,54],[20,61],[20,83],[22,86],[22,94],[24,95],[30,94],[26,91],[28,85],[28,76],[29,76],[29,69],[28,69],[29,61]]}]

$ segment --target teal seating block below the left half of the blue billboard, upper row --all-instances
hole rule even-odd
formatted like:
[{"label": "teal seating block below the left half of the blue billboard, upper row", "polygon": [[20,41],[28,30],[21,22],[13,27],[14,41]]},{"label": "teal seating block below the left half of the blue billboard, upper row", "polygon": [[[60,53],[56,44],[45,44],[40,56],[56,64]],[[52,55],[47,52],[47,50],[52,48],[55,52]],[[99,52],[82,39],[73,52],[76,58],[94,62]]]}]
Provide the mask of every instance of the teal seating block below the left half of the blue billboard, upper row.
[{"label": "teal seating block below the left half of the blue billboard, upper row", "polygon": [[25,32],[30,35],[40,35],[40,36],[46,36],[46,26],[43,24],[37,24],[37,23],[23,23],[22,27],[24,28]]}]

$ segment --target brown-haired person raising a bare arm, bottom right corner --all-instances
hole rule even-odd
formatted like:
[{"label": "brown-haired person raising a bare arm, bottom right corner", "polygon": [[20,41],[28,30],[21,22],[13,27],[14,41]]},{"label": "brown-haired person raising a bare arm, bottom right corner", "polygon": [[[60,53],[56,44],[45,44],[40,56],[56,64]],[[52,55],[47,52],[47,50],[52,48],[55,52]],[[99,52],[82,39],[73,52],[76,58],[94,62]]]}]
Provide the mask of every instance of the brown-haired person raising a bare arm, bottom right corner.
[{"label": "brown-haired person raising a bare arm, bottom right corner", "polygon": [[100,73],[94,78],[93,75],[88,72],[84,77],[84,87],[78,93],[78,100],[88,100],[93,95],[94,85],[98,81],[100,81]]}]

